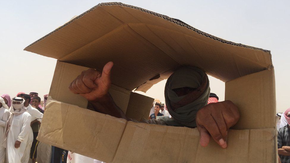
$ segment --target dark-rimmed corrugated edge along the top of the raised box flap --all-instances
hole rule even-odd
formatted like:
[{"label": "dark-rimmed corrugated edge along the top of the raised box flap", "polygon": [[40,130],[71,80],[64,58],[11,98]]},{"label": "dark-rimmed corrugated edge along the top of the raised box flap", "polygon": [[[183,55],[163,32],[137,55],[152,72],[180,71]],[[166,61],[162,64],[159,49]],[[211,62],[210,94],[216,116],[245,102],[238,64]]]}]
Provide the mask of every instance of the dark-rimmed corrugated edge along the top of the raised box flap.
[{"label": "dark-rimmed corrugated edge along the top of the raised box flap", "polygon": [[[200,35],[203,35],[203,36],[205,36],[205,37],[211,38],[211,39],[213,39],[213,40],[216,40],[216,41],[219,41],[219,42],[222,42],[222,43],[225,43],[225,44],[234,45],[234,46],[239,46],[239,47],[244,47],[244,48],[250,48],[250,49],[255,49],[255,50],[261,50],[261,51],[263,51],[263,52],[270,53],[270,50],[264,50],[264,49],[261,49],[261,48],[256,48],[256,47],[252,47],[252,46],[248,46],[248,45],[243,45],[243,44],[239,44],[239,43],[235,43],[235,42],[227,41],[227,40],[225,40],[225,39],[221,39],[221,38],[215,37],[215,36],[213,36],[213,35],[211,35],[211,34],[207,34],[207,33],[203,32],[203,31],[200,31],[200,30],[198,30],[198,29],[196,29],[196,28],[193,28],[192,26],[189,26],[188,24],[182,22],[181,20],[174,19],[174,18],[170,18],[170,17],[168,17],[168,16],[166,16],[166,15],[161,15],[161,14],[158,14],[158,13],[156,13],[156,12],[152,12],[152,11],[149,11],[149,10],[142,9],[142,8],[140,8],[140,7],[135,7],[135,6],[131,6],[131,5],[128,5],[128,4],[123,4],[123,3],[121,3],[121,2],[100,3],[100,4],[98,4],[98,5],[94,6],[94,7],[92,7],[90,10],[88,10],[88,11],[82,13],[82,14],[79,15],[78,17],[76,17],[76,18],[70,20],[69,22],[65,23],[63,26],[60,26],[59,28],[57,28],[56,30],[52,31],[51,33],[49,33],[49,34],[45,35],[44,37],[38,39],[37,41],[33,42],[32,44],[30,44],[30,45],[27,46],[26,48],[30,47],[31,45],[34,45],[34,44],[37,43],[37,42],[40,42],[42,39],[45,39],[45,38],[48,37],[49,35],[55,33],[56,31],[58,31],[58,30],[60,30],[60,29],[62,29],[62,28],[64,28],[64,27],[67,26],[68,24],[72,23],[74,20],[76,20],[76,19],[78,19],[78,18],[81,18],[83,15],[86,15],[87,13],[89,13],[89,12],[91,12],[92,10],[96,9],[97,7],[101,7],[101,6],[112,6],[112,5],[119,5],[119,6],[129,7],[129,8],[132,8],[132,9],[140,10],[140,11],[142,11],[142,12],[146,12],[146,13],[148,13],[148,14],[155,15],[155,16],[157,16],[157,17],[160,17],[160,18],[164,19],[164,20],[168,20],[168,21],[170,21],[170,22],[172,22],[172,23],[175,23],[175,24],[177,24],[177,25],[179,25],[179,26],[183,26],[183,27],[185,27],[185,28],[187,28],[187,29],[190,29],[190,30],[192,30],[192,31],[194,31],[194,32],[196,32],[196,33],[198,33],[198,34],[200,34]],[[26,48],[24,48],[24,50],[26,50]]]}]

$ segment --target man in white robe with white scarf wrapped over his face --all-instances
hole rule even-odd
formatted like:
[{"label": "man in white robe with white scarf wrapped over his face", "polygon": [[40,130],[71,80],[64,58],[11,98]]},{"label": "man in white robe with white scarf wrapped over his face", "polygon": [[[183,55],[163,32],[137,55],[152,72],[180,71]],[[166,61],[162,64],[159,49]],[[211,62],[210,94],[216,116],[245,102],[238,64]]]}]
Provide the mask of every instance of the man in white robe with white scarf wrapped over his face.
[{"label": "man in white robe with white scarf wrapped over his face", "polygon": [[10,107],[10,117],[5,130],[8,163],[24,163],[21,159],[25,153],[27,143],[29,143],[29,140],[33,140],[30,127],[31,115],[27,112],[24,102],[23,98],[15,97]]}]

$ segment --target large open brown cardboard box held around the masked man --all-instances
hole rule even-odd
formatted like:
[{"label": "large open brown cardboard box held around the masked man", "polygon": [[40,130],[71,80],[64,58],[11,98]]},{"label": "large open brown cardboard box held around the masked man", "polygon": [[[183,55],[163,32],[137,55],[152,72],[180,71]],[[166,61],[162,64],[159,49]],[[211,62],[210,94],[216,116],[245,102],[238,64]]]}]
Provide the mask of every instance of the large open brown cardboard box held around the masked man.
[{"label": "large open brown cardboard box held around the masked man", "polygon": [[[268,50],[226,41],[186,23],[122,3],[102,3],[24,50],[58,59],[38,139],[104,162],[276,162],[275,77]],[[110,89],[129,118],[147,118],[146,92],[183,65],[226,83],[239,108],[228,147],[199,145],[197,129],[127,122],[86,109],[68,86],[113,61]],[[163,61],[160,64],[160,61]],[[138,109],[138,111],[137,111]],[[162,152],[161,152],[162,151]]]}]

